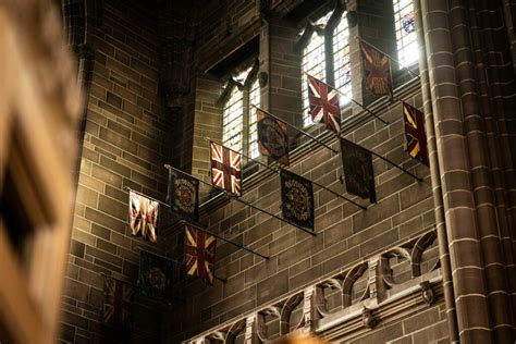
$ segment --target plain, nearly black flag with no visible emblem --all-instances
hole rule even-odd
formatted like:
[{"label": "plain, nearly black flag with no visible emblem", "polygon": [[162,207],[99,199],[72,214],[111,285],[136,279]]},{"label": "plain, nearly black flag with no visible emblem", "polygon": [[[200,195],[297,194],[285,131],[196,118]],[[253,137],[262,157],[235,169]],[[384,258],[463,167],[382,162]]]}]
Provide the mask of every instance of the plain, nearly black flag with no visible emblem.
[{"label": "plain, nearly black flag with no visible emblem", "polygon": [[377,202],[371,152],[341,137],[341,156],[346,189],[349,194]]}]

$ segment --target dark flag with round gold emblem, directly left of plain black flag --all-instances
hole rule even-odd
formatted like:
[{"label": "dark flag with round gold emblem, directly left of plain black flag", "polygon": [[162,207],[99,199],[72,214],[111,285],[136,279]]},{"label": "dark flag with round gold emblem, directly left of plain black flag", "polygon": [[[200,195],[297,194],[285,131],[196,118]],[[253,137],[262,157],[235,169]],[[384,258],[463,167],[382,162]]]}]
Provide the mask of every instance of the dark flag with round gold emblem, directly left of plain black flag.
[{"label": "dark flag with round gold emblem, directly left of plain black flag", "polygon": [[314,231],[314,187],[300,175],[281,169],[283,218]]}]

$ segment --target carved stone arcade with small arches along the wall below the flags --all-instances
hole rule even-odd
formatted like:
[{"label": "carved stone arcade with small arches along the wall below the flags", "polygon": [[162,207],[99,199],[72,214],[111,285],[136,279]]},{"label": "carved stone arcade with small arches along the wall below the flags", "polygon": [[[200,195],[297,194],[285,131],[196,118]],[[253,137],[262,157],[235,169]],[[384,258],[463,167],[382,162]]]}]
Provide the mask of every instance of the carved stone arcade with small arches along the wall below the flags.
[{"label": "carved stone arcade with small arches along the wall below the flags", "polygon": [[[299,332],[317,333],[328,340],[353,337],[354,332],[364,333],[386,318],[428,307],[442,296],[437,253],[430,261],[423,259],[423,253],[435,248],[435,231],[429,231],[185,343],[235,343],[237,336],[248,344],[268,343],[278,334]],[[400,267],[402,273],[393,272]],[[407,281],[398,281],[403,274]],[[363,288],[357,285],[359,280],[365,284]],[[336,293],[341,305],[329,307]],[[275,336],[268,333],[271,324],[279,327]]]}]

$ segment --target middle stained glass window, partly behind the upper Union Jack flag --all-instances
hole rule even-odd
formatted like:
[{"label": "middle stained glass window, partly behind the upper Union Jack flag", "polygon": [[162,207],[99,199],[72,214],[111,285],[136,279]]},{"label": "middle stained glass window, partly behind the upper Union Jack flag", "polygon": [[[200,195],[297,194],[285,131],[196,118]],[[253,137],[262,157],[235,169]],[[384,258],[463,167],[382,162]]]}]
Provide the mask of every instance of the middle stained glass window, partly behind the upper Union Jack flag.
[{"label": "middle stained glass window, partly behind the upper Union Jack flag", "polygon": [[[328,20],[331,17],[332,12],[319,19],[315,24],[320,27],[327,25]],[[348,46],[349,30],[347,27],[346,12],[343,13],[339,25],[333,30],[331,36],[333,46],[333,61],[325,61],[324,54],[324,36],[314,33],[310,41],[306,46],[302,56],[302,91],[303,91],[303,124],[308,126],[312,124],[311,118],[308,114],[308,89],[306,73],[325,82],[325,65],[327,63],[333,63],[334,70],[334,84],[340,91],[346,95],[352,94],[352,67],[349,63],[349,46]],[[349,99],[341,96],[340,97],[341,108],[349,102]]]}]

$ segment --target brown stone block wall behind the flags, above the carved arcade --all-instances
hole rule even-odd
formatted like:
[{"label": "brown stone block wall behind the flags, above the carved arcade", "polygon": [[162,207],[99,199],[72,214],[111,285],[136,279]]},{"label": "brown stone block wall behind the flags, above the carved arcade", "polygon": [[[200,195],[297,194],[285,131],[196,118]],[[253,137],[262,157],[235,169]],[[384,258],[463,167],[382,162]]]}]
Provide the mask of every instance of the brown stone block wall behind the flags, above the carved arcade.
[{"label": "brown stone block wall behind the flags, above the carved arcade", "polygon": [[[282,9],[277,8],[279,13],[280,10]],[[249,8],[249,11],[256,11],[256,8]],[[282,20],[278,15],[277,13],[270,23],[263,23],[258,29],[254,28],[256,22],[253,20],[249,20],[246,25],[244,25],[245,22],[244,24],[238,22],[229,37],[238,34],[242,34],[241,37],[254,37],[255,34],[260,34],[260,72],[269,74],[269,84],[261,88],[261,106],[291,123],[296,123],[294,114],[298,115],[299,111],[295,109],[300,109],[300,69],[299,52],[295,51],[294,46],[300,28],[295,23]],[[254,19],[253,15],[245,17]],[[213,27],[212,23],[206,25]],[[251,29],[256,33],[251,34]],[[357,28],[352,28],[352,30],[356,32]],[[205,32],[205,28],[199,32]],[[208,32],[214,35],[212,29],[206,29],[206,33]],[[213,47],[216,38],[209,37],[211,38],[198,37],[199,51],[202,51],[205,45]],[[245,42],[244,38],[241,40],[241,44]],[[220,51],[230,52],[231,47],[234,47],[232,44],[229,38],[225,45],[219,39],[216,45],[218,51],[210,56],[210,59],[214,61],[217,61],[216,57],[222,59],[224,56]],[[356,51],[353,54],[355,59],[352,60],[352,64],[355,71],[359,70],[359,60],[357,59],[358,47],[354,49]],[[202,63],[201,60],[199,64],[202,65]],[[213,64],[213,62],[210,63]],[[198,73],[202,76],[202,71]],[[354,75],[355,89],[361,87],[360,83],[361,79]],[[196,121],[201,118],[200,115],[206,114],[200,111],[200,107],[205,105],[206,98],[210,97],[207,91],[209,89],[212,90],[211,99],[214,103],[219,96],[216,91],[217,81],[206,76],[197,87],[197,94],[200,97],[197,101]],[[221,90],[222,87],[220,87]],[[421,106],[417,82],[398,90],[396,96],[415,106]],[[213,114],[221,113],[220,109],[213,109]],[[384,125],[364,111],[354,109],[353,116],[345,120],[346,137],[403,165],[422,177],[423,182],[418,183],[408,174],[374,158],[378,205],[360,210],[351,202],[316,187],[316,236],[236,201],[228,202],[216,197],[201,209],[204,216],[200,221],[211,231],[269,256],[270,259],[263,260],[238,250],[231,244],[219,243],[216,275],[225,281],[216,280],[211,287],[205,286],[200,281],[186,285],[184,297],[187,302],[179,305],[180,310],[174,312],[175,316],[171,315],[168,321],[169,342],[175,343],[210,328],[231,323],[243,315],[251,314],[282,297],[302,291],[314,281],[344,270],[357,261],[369,259],[386,248],[432,230],[434,214],[429,169],[417,163],[404,151],[401,105],[388,105],[386,101],[380,101],[371,110],[379,113],[390,124]],[[346,111],[346,115],[349,116],[351,112]],[[199,123],[201,122],[205,126],[212,125],[210,121],[199,121]],[[201,126],[199,128],[199,133],[208,131],[201,130]],[[320,128],[312,130],[316,133],[321,132]],[[330,134],[323,133],[319,137],[333,149],[340,149],[337,140]],[[198,144],[200,146],[194,148],[195,165],[198,167],[198,171],[201,171],[199,174],[206,177],[208,145],[201,139]],[[199,158],[196,159],[196,157]],[[345,194],[345,186],[340,181],[342,176],[340,155],[314,144],[297,149],[292,160],[290,170],[293,172],[367,205],[367,201]],[[279,183],[277,174],[260,169],[258,173],[244,181],[243,199],[274,214],[280,214]],[[432,255],[435,257],[437,250],[433,250]],[[181,319],[176,317],[177,314],[181,314]],[[437,314],[440,317],[442,315],[440,311]],[[442,322],[442,319],[440,321]],[[401,323],[397,322],[400,327]],[[407,335],[411,334],[403,332],[400,337]]]}]

